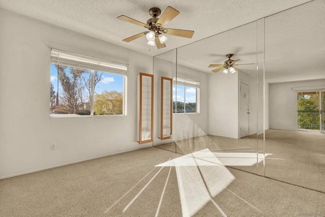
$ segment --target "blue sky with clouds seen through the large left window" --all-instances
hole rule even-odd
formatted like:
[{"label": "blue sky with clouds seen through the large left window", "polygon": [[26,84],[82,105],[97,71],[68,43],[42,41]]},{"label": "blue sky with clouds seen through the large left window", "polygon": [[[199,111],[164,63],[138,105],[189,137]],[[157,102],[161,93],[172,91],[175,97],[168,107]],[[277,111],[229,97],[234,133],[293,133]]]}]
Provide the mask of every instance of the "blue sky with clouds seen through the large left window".
[{"label": "blue sky with clouds seen through the large left window", "polygon": [[[54,86],[55,94],[57,92],[57,71],[54,64],[51,64],[51,83]],[[59,82],[59,88],[61,87]],[[95,86],[95,94],[101,94],[104,90],[116,90],[123,92],[123,76],[111,73],[104,73],[102,80]]]}]

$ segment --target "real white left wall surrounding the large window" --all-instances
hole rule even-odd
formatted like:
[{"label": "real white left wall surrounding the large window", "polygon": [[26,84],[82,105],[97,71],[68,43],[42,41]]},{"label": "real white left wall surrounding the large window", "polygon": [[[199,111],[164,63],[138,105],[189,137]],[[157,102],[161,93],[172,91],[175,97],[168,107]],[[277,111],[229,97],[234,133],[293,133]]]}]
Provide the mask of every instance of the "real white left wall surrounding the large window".
[{"label": "real white left wall surrounding the large window", "polygon": [[[152,57],[4,10],[0,20],[0,178],[152,145],[136,142],[136,78]],[[128,63],[127,116],[50,118],[49,46]]]}]

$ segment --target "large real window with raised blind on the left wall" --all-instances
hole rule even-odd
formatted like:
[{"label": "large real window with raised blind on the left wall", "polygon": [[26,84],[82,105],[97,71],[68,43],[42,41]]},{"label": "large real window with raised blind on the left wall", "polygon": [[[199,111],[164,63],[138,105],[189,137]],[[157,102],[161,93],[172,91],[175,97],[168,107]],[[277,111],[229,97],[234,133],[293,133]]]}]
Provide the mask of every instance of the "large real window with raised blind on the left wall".
[{"label": "large real window with raised blind on the left wall", "polygon": [[126,64],[52,49],[51,116],[125,114]]}]

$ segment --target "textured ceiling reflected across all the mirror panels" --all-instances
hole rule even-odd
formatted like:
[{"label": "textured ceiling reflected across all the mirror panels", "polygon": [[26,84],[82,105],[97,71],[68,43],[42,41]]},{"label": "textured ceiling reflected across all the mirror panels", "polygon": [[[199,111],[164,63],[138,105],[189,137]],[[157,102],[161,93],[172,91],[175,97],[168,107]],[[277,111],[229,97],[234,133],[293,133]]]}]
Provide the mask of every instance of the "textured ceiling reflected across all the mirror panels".
[{"label": "textured ceiling reflected across all the mirror panels", "polygon": [[[265,79],[270,83],[325,79],[325,28],[320,27],[325,26],[324,14],[323,0],[285,10],[183,46],[177,50],[177,64],[212,73],[216,68],[208,68],[210,64],[223,64],[225,54],[233,53],[232,59],[240,59],[236,64],[255,64],[237,66],[251,76],[256,76],[257,58],[263,70],[265,57]],[[257,56],[257,48],[264,46],[265,53]],[[157,58],[171,59],[168,55],[172,53]]]}]

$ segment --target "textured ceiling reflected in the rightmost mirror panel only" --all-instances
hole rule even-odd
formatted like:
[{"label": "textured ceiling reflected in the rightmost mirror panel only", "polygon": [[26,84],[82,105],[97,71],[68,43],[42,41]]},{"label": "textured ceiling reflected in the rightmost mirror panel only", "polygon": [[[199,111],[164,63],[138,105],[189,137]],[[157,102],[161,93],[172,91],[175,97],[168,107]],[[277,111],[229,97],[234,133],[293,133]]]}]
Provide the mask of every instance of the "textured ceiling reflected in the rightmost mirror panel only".
[{"label": "textured ceiling reflected in the rightmost mirror panel only", "polygon": [[325,1],[315,0],[265,19],[270,83],[325,78],[324,14]]}]

